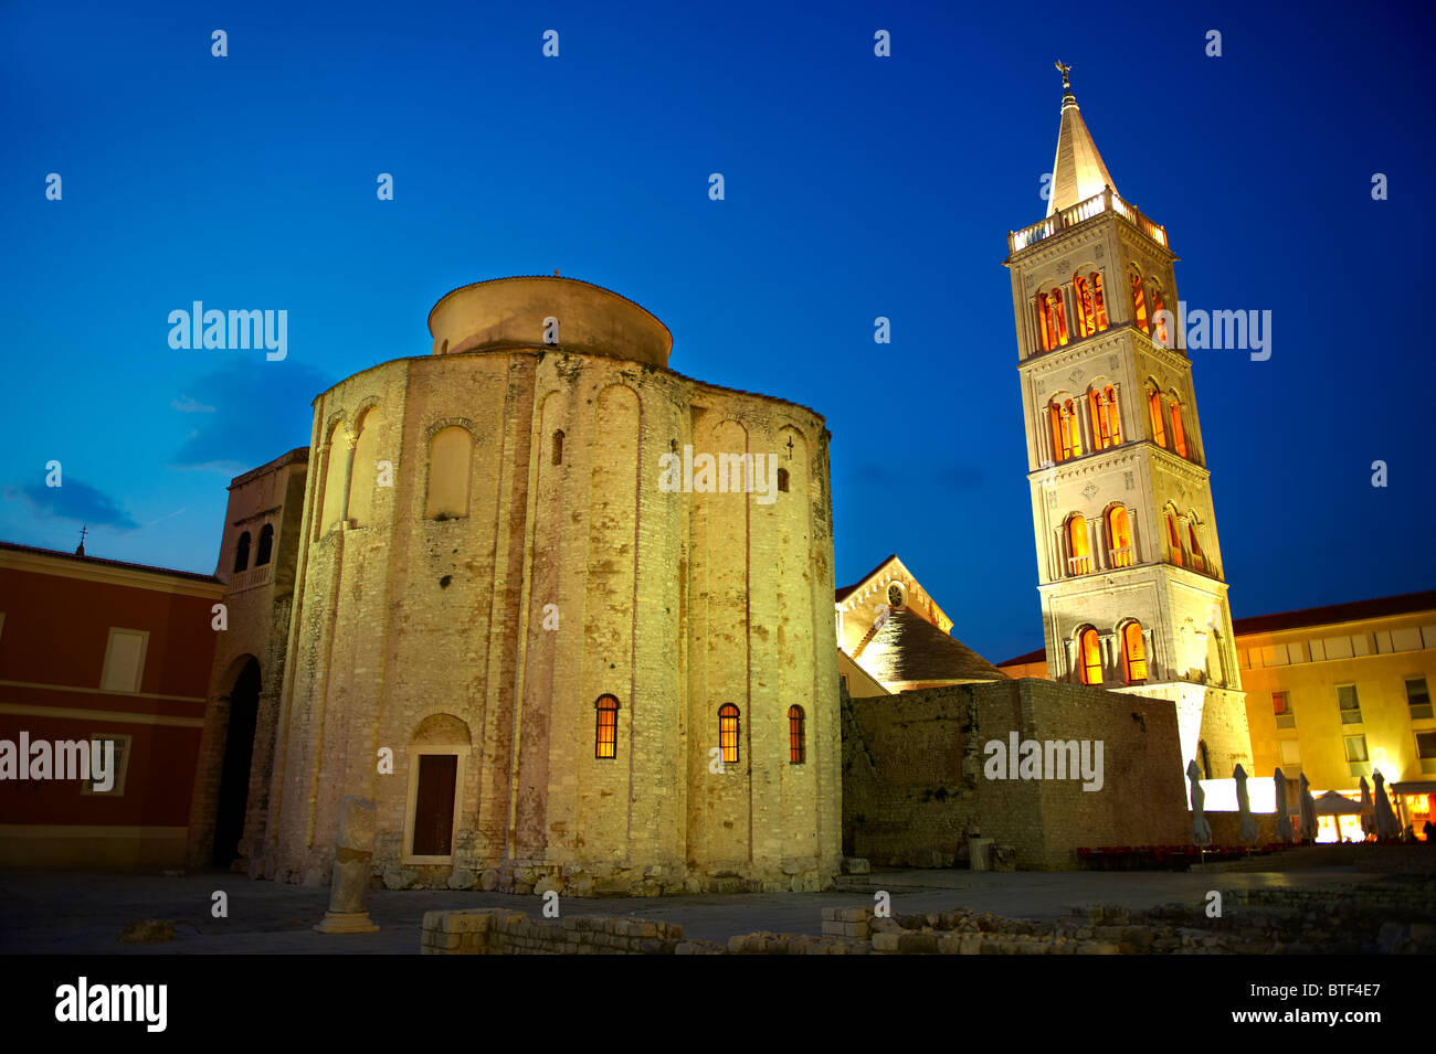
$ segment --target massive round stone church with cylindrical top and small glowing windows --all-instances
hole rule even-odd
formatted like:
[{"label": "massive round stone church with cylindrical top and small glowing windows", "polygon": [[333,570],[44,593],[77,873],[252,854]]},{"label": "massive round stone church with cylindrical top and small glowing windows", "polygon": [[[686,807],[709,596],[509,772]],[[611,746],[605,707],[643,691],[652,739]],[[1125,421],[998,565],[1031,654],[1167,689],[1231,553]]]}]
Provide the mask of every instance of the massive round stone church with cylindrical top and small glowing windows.
[{"label": "massive round stone church with cylindrical top and small glowing windows", "polygon": [[829,435],[570,278],[445,295],[314,400],[264,873],[816,891],[840,859]]}]

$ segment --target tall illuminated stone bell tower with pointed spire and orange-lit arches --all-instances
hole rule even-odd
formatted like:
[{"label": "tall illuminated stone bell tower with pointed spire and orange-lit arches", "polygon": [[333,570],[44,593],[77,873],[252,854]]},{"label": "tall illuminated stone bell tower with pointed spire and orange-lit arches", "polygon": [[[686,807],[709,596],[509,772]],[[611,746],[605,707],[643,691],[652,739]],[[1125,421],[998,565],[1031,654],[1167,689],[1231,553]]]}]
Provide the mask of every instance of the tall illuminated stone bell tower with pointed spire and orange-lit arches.
[{"label": "tall illuminated stone bell tower with pointed spire and orange-lit arches", "polygon": [[1047,218],[1008,232],[1047,673],[1169,698],[1183,766],[1251,770],[1166,228],[1117,194],[1063,73]]}]

